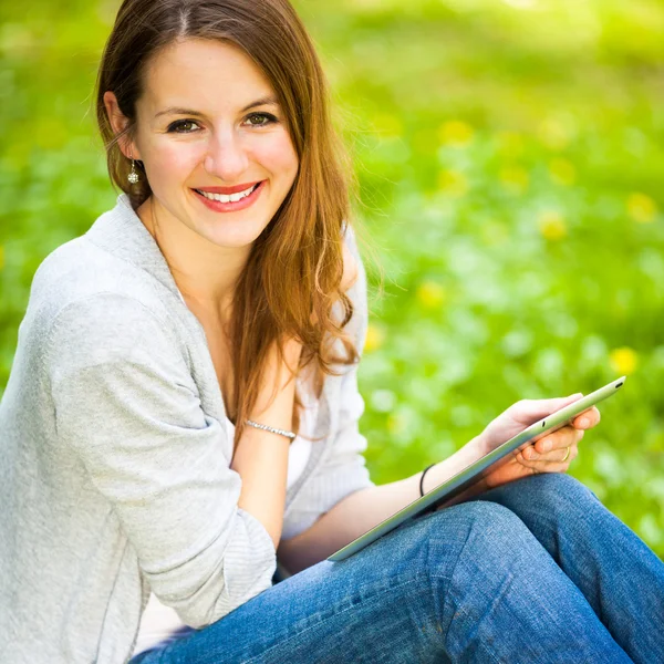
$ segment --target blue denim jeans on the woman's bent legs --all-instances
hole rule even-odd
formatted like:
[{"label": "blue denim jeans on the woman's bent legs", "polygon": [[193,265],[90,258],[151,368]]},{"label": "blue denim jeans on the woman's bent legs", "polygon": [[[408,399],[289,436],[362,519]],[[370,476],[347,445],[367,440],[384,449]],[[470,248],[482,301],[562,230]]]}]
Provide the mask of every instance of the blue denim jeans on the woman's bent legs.
[{"label": "blue denim jeans on the woman's bent legs", "polygon": [[131,664],[664,662],[664,563],[569,475],[421,516]]}]

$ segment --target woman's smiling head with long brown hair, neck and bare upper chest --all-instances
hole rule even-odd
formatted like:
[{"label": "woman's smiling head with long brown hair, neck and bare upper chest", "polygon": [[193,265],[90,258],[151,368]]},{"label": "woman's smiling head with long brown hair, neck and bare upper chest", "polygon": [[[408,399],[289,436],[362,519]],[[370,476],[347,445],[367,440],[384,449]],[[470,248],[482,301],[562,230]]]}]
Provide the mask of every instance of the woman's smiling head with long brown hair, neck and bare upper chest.
[{"label": "woman's smiling head with long brown hair, neck and bare upper chest", "polygon": [[[289,29],[298,19],[288,3],[259,3],[251,25],[239,1],[216,10],[174,4],[170,13],[148,4],[125,2],[118,12],[97,81],[100,129],[114,183],[214,338],[237,443],[276,339],[311,340],[303,355],[315,359],[319,393],[330,373],[325,333],[350,352],[335,361],[356,360],[331,313],[336,300],[344,323],[352,313],[340,240],[351,176],[330,127],[323,73],[301,24]],[[134,21],[143,11],[152,12],[148,29]],[[267,34],[261,21],[274,30]]]}]

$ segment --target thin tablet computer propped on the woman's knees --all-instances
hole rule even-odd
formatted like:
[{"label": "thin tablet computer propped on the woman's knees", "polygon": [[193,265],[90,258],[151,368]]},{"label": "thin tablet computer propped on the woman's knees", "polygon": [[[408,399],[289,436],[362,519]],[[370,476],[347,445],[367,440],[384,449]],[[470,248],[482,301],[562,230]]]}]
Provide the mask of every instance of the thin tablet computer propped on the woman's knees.
[{"label": "thin tablet computer propped on the woman's knees", "polygon": [[424,512],[434,511],[438,507],[446,504],[454,504],[454,498],[470,487],[476,481],[479,481],[483,477],[499,465],[505,464],[509,460],[509,454],[518,454],[521,449],[525,449],[535,440],[539,440],[544,435],[550,434],[562,426],[570,424],[578,415],[588,411],[599,402],[614,394],[625,382],[625,376],[616,378],[615,381],[591,392],[590,394],[582,396],[572,404],[556,411],[551,415],[548,415],[543,419],[531,424],[525,428],[520,434],[517,434],[513,438],[506,440],[492,452],[489,452],[484,457],[477,459],[461,471],[457,473],[443,484],[438,485],[422,498],[417,498],[392,517],[388,517],[377,526],[374,526],[371,530],[353,540],[342,549],[339,549],[335,553],[332,553],[328,558],[333,562],[345,560],[353,553],[364,549],[367,544],[371,544],[383,535],[394,530],[402,523],[419,516]]}]

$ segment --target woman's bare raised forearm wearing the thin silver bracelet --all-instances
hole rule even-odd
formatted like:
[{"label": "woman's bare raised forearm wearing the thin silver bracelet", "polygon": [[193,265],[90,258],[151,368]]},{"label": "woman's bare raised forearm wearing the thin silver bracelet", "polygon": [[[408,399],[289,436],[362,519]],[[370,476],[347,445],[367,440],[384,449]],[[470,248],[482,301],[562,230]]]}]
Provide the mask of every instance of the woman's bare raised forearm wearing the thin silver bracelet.
[{"label": "woman's bare raised forearm wearing the thin silver bracelet", "polygon": [[[276,382],[280,385],[278,394],[266,407]],[[268,371],[264,388],[249,419],[292,430],[294,393],[295,381],[284,365],[278,371]],[[290,443],[289,438],[280,434],[247,426],[230,464],[242,478],[238,507],[264,526],[274,542],[274,548],[283,528]]]}]

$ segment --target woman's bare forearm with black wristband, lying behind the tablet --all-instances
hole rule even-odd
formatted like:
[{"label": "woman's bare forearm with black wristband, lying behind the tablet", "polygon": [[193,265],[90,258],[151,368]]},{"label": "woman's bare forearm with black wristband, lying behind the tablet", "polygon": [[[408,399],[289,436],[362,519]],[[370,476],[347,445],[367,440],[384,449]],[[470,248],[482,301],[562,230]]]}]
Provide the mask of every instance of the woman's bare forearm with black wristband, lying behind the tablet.
[{"label": "woman's bare forearm with black wristband, lying behind the tablet", "polygon": [[[450,457],[430,468],[425,492],[453,477],[484,456],[484,444],[474,438]],[[279,546],[279,557],[291,573],[297,573],[338,551],[387,517],[419,498],[422,470],[385,485],[351,494],[324,513],[311,528]]]}]

